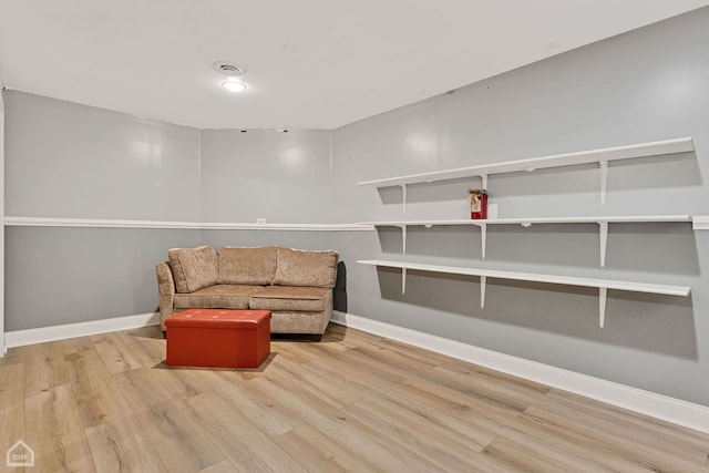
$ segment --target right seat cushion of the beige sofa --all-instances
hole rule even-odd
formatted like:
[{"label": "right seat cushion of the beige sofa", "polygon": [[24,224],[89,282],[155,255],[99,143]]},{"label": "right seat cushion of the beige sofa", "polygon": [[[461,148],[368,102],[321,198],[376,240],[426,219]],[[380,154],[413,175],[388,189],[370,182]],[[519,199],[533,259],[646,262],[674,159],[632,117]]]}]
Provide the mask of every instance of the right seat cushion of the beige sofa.
[{"label": "right seat cushion of the beige sofa", "polygon": [[332,307],[332,289],[268,286],[251,295],[249,309],[319,312]]}]

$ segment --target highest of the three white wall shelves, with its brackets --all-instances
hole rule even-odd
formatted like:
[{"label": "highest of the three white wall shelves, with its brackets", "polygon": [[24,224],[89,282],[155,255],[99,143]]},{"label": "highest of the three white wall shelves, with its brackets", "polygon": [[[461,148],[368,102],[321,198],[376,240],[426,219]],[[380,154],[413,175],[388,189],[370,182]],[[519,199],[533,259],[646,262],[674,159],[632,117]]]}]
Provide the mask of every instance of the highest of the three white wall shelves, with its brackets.
[{"label": "highest of the three white wall shelves, with its brackets", "polygon": [[502,163],[481,164],[476,166],[459,167],[455,169],[434,171],[431,173],[410,174],[405,176],[383,179],[364,181],[358,185],[389,187],[400,186],[403,193],[403,212],[407,204],[407,185],[432,183],[464,177],[481,177],[482,188],[487,188],[487,176],[493,174],[532,172],[548,167],[575,166],[578,164],[598,163],[600,167],[600,202],[606,200],[606,176],[608,163],[612,161],[630,160],[636,157],[660,156],[667,154],[688,153],[695,151],[691,137],[665,140],[650,143],[614,146],[600,150],[582,151],[577,153],[556,154],[551,156],[532,157],[527,160],[507,161]]}]

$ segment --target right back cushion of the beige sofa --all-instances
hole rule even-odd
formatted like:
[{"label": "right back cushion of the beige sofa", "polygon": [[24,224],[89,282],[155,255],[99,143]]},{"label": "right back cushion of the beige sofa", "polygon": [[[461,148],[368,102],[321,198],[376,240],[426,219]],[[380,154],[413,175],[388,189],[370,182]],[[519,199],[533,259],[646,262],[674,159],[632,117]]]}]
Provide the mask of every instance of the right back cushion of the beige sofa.
[{"label": "right back cushion of the beige sofa", "polygon": [[337,251],[306,251],[278,248],[274,284],[333,288],[337,278]]}]

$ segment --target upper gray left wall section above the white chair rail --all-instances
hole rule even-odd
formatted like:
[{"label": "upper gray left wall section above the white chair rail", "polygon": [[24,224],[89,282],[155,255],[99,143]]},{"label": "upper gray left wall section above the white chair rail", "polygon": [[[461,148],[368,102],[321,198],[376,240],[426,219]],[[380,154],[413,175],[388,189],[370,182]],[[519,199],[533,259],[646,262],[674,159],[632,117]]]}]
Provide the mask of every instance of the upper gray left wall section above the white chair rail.
[{"label": "upper gray left wall section above the white chair rail", "polygon": [[199,218],[199,132],[6,93],[6,215]]}]

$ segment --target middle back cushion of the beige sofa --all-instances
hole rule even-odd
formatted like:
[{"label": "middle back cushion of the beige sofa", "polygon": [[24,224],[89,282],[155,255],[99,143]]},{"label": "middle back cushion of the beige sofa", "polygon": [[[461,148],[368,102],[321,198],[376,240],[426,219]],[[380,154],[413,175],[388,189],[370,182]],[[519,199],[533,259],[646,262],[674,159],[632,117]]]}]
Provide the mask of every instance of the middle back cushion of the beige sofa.
[{"label": "middle back cushion of the beige sofa", "polygon": [[258,285],[274,284],[278,248],[263,246],[219,248],[218,284]]}]

